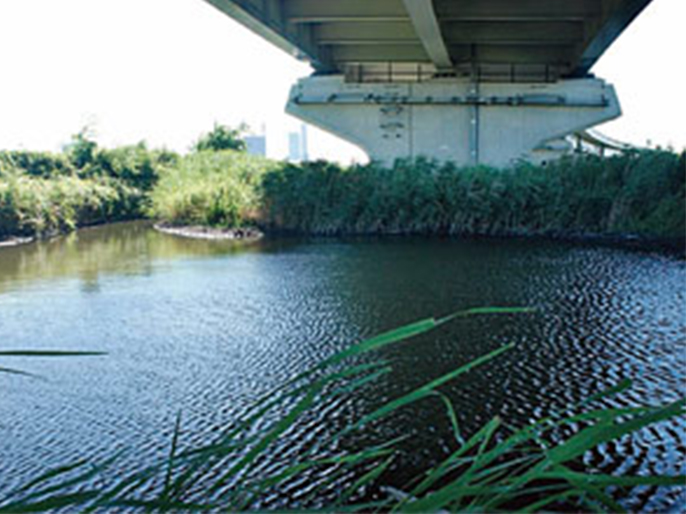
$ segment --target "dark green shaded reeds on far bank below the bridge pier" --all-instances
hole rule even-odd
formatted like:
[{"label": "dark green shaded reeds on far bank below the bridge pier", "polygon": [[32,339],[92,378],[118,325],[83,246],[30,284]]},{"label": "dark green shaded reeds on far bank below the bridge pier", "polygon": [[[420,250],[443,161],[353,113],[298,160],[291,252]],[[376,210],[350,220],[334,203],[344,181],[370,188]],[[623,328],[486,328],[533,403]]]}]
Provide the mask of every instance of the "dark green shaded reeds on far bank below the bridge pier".
[{"label": "dark green shaded reeds on far bank below the bridge pier", "polygon": [[266,226],[314,234],[635,234],[683,239],[685,161],[667,151],[546,167],[316,162],[265,175]]}]

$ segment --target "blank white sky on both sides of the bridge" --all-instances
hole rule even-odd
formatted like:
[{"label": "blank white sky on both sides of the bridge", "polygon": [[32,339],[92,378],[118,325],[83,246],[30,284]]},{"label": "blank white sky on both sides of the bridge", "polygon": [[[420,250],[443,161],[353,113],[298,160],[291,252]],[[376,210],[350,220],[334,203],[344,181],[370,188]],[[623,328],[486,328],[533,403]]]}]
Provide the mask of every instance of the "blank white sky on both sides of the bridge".
[{"label": "blank white sky on both sides of the bridge", "polygon": [[[370,0],[373,1],[373,0]],[[686,0],[653,3],[594,68],[624,116],[600,127],[686,148]],[[202,0],[0,0],[0,149],[59,150],[90,124],[103,146],[187,150],[215,121],[266,125],[284,157],[284,113],[308,65]],[[310,129],[310,156],[363,154]]]}]

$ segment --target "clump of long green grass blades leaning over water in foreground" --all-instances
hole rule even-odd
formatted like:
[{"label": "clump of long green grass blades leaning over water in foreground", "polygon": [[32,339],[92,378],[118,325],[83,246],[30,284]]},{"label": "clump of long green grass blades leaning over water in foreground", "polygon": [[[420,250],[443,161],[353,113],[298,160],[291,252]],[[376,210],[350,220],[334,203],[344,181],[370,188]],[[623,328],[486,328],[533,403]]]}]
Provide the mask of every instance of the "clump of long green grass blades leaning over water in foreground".
[{"label": "clump of long green grass blades leaning over water in foreground", "polygon": [[[610,407],[612,400],[606,400],[629,389],[629,381],[523,426],[495,417],[480,430],[463,433],[455,407],[441,388],[487,366],[511,345],[461,363],[366,412],[352,408],[335,419],[326,416],[326,435],[309,438],[307,447],[295,455],[276,450],[299,420],[319,418],[351,395],[364,395],[370,383],[388,379],[393,362],[379,358],[379,353],[389,355],[380,349],[466,317],[527,311],[475,308],[378,335],[328,357],[265,395],[209,443],[187,443],[194,438],[183,430],[181,413],[171,431],[166,459],[141,470],[118,468],[118,457],[66,463],[0,498],[0,512],[622,512],[631,510],[622,500],[634,487],[683,487],[683,476],[586,471],[587,452],[684,413],[684,400]],[[419,402],[438,402],[445,409],[443,429],[449,434],[442,445],[443,460],[424,469],[414,469],[408,461],[411,452],[406,444],[413,434],[394,422],[399,411]],[[362,437],[365,427],[373,427],[375,437]],[[360,440],[367,442],[360,446]],[[356,441],[354,450],[351,441]],[[395,477],[408,466],[415,479],[399,483]]]}]

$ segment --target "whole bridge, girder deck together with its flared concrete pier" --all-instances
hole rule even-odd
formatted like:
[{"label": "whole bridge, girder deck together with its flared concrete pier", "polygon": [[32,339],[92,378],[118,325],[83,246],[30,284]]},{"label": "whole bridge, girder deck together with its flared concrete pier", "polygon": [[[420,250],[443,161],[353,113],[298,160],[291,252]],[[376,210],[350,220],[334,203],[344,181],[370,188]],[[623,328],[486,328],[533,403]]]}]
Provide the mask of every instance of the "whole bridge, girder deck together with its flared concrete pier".
[{"label": "whole bridge, girder deck together with its flared concrete pier", "polygon": [[620,116],[590,72],[651,0],[206,0],[314,74],[287,111],[373,159],[545,161]]}]

